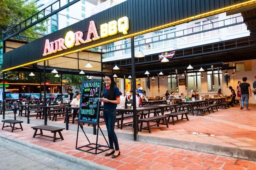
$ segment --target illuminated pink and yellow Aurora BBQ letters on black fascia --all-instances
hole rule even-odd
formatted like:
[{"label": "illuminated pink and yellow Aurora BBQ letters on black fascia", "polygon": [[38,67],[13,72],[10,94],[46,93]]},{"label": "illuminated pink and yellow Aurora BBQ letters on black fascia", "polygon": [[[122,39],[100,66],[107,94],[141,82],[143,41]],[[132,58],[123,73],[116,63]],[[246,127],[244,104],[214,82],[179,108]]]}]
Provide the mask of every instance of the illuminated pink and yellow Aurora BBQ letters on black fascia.
[{"label": "illuminated pink and yellow Aurora BBQ letters on black fascia", "polygon": [[[72,48],[74,45],[78,46],[80,44],[98,40],[100,38],[115,35],[118,32],[127,34],[128,29],[129,19],[125,16],[119,18],[118,21],[113,20],[109,23],[101,24],[99,36],[94,21],[90,21],[87,38],[85,40],[83,39],[82,31],[77,31],[75,33],[73,31],[68,31],[65,38],[59,38],[52,42],[50,42],[49,39],[46,39],[43,56],[65,50],[67,48]],[[91,36],[93,36],[93,38],[91,38]]]}]

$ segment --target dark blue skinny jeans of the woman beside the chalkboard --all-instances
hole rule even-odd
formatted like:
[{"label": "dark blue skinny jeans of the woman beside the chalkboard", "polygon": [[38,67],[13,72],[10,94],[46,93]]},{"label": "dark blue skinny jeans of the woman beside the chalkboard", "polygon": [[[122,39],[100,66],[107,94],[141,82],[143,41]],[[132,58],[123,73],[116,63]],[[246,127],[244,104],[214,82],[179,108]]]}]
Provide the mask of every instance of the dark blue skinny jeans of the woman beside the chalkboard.
[{"label": "dark blue skinny jeans of the woman beside the chalkboard", "polygon": [[104,109],[103,110],[104,121],[108,130],[109,146],[110,149],[114,149],[113,143],[115,144],[115,150],[119,150],[118,140],[115,134],[115,120],[116,120],[116,108]]}]

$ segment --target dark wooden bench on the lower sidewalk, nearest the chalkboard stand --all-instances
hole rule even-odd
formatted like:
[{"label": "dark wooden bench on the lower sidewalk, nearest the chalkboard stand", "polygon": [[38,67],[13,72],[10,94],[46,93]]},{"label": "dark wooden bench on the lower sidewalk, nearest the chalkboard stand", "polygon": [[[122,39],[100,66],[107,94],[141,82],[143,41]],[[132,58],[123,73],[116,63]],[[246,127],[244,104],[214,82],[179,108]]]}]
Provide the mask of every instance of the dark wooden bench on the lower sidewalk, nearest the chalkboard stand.
[{"label": "dark wooden bench on the lower sidewalk, nearest the chalkboard stand", "polygon": [[[58,128],[58,127],[47,126],[47,125],[33,126],[31,128],[33,128],[33,130],[35,130],[33,137],[35,137],[36,135],[51,137],[51,138],[53,138],[53,142],[55,142],[58,139],[64,140],[63,136],[61,134],[61,131],[64,130],[65,128]],[[40,133],[36,134],[38,129],[40,130]],[[44,135],[42,130],[50,131],[51,133],[54,133],[54,134],[53,134],[53,136]],[[59,133],[60,137],[56,138],[56,132]]]}]

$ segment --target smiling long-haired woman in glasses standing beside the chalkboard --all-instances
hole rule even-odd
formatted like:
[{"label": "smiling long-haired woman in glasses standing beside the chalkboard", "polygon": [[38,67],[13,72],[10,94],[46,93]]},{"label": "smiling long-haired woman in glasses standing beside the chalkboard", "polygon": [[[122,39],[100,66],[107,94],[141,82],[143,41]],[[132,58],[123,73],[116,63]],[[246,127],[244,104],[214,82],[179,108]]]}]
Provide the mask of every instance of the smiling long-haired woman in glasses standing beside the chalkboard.
[{"label": "smiling long-haired woman in glasses standing beside the chalkboard", "polygon": [[[116,87],[113,75],[106,74],[104,82],[107,87],[104,89],[104,99],[100,99],[100,101],[104,102],[103,117],[108,130],[110,146],[110,150],[108,153],[105,153],[105,156],[112,155],[112,158],[115,158],[120,155],[118,140],[114,131],[116,121],[116,107],[117,104],[120,103],[120,94],[119,89]],[[115,150],[113,144],[115,145]]]}]

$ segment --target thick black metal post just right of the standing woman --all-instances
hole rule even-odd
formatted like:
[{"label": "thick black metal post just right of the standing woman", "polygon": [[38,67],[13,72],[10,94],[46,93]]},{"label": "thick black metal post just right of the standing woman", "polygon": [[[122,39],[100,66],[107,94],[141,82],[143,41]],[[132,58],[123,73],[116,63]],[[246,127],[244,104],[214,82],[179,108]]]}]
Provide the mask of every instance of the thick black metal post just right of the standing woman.
[{"label": "thick black metal post just right of the standing woman", "polygon": [[132,98],[133,98],[133,139],[137,141],[138,135],[138,116],[136,110],[136,79],[135,79],[135,58],[134,58],[134,37],[131,37],[131,55],[132,55],[132,81],[133,81],[133,91],[132,91]]}]

